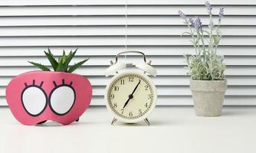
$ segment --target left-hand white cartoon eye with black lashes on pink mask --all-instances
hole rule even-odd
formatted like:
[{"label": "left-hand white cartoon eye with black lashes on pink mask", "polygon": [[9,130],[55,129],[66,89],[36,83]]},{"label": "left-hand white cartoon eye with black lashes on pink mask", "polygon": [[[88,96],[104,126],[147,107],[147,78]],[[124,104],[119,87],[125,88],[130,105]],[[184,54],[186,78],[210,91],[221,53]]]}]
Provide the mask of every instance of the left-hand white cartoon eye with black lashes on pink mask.
[{"label": "left-hand white cartoon eye with black lashes on pink mask", "polygon": [[39,116],[47,106],[47,95],[42,89],[43,81],[40,85],[29,85],[25,83],[25,89],[21,93],[21,102],[26,112],[31,116]]}]

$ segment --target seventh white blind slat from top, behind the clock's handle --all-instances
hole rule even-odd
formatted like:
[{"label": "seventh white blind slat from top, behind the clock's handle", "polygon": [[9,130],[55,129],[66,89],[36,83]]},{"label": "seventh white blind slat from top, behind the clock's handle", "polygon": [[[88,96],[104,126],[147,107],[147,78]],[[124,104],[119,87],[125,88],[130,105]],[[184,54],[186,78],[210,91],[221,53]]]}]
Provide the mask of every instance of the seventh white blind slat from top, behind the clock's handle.
[{"label": "seventh white blind slat from top, behind the clock's handle", "polygon": [[[87,57],[75,57],[71,61],[71,65],[77,63],[81,60],[84,60]],[[109,66],[110,60],[113,60],[114,56],[95,56],[90,57],[84,65],[87,66]],[[149,60],[154,61],[153,66],[172,66],[172,65],[181,65],[185,66],[185,59],[182,56],[147,56]],[[129,56],[126,57],[130,62],[138,63],[142,58],[140,56]],[[248,65],[256,66],[256,56],[244,56],[243,58],[238,56],[225,56],[224,62],[226,65]],[[13,66],[31,66],[31,63],[28,61],[34,61],[37,63],[42,63],[46,66],[51,66],[51,63],[45,59],[45,57],[0,57],[0,66],[1,67],[13,67]],[[120,62],[125,62],[124,57],[119,58]]]}]

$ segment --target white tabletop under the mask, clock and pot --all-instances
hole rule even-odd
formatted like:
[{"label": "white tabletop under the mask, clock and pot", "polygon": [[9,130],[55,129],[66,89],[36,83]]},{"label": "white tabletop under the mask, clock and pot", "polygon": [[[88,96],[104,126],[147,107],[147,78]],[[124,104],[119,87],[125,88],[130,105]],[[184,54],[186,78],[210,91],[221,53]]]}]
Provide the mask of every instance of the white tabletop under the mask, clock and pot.
[{"label": "white tabletop under the mask, clock and pot", "polygon": [[87,109],[80,122],[44,126],[18,123],[0,108],[0,152],[256,152],[256,107],[225,107],[221,117],[195,116],[192,107],[158,107],[144,122],[110,125],[104,107]]}]

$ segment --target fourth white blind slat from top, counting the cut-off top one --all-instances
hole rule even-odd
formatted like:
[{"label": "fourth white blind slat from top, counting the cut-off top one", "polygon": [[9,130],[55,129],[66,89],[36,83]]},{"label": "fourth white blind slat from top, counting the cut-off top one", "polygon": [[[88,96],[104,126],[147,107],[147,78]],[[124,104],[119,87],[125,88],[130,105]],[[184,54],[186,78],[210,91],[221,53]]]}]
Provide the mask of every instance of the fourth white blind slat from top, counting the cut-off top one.
[{"label": "fourth white blind slat from top, counting the cut-off top one", "polygon": [[[186,26],[129,26],[128,36],[180,36]],[[234,32],[236,31],[236,32]],[[125,36],[124,26],[2,27],[1,36]],[[223,36],[256,36],[251,26],[222,26]]]}]

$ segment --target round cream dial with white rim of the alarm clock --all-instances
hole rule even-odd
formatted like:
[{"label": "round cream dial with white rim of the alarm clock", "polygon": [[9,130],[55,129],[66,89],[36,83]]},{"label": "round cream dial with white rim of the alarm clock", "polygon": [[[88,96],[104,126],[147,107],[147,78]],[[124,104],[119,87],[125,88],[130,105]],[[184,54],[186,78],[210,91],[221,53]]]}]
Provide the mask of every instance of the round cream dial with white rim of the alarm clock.
[{"label": "round cream dial with white rim of the alarm clock", "polygon": [[107,106],[117,118],[126,122],[145,119],[155,107],[156,89],[141,73],[120,73],[107,87]]}]

